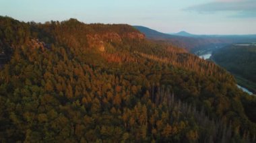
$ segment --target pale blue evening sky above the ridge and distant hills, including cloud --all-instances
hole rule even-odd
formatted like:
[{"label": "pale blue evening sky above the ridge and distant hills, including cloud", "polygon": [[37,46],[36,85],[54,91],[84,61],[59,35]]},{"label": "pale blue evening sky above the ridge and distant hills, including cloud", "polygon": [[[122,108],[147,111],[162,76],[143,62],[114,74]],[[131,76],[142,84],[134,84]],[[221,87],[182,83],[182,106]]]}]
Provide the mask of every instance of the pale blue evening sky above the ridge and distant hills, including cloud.
[{"label": "pale blue evening sky above the ridge and distant hills, including cloud", "polygon": [[164,33],[256,34],[256,0],[0,0],[0,15],[128,23]]}]

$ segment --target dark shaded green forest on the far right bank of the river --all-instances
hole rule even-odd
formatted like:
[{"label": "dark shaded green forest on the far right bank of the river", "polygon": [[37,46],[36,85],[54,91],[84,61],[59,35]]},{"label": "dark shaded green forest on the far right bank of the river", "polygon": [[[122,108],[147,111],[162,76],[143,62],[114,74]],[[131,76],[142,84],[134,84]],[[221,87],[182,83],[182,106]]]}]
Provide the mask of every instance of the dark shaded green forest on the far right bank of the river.
[{"label": "dark shaded green forest on the far right bank of the river", "polygon": [[230,45],[212,54],[220,66],[236,75],[238,83],[256,93],[256,46],[253,44]]}]

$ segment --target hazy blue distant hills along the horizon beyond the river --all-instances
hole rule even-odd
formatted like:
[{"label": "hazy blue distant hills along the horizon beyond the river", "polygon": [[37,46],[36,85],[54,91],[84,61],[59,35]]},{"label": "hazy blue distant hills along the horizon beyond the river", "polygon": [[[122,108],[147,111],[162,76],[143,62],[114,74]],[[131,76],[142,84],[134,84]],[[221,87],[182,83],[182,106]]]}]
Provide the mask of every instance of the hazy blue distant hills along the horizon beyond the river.
[{"label": "hazy blue distant hills along the horizon beyond the river", "polygon": [[176,34],[165,34],[143,26],[133,26],[146,38],[167,42],[195,53],[198,50],[212,49],[227,44],[256,42],[256,35],[197,35],[182,31]]}]

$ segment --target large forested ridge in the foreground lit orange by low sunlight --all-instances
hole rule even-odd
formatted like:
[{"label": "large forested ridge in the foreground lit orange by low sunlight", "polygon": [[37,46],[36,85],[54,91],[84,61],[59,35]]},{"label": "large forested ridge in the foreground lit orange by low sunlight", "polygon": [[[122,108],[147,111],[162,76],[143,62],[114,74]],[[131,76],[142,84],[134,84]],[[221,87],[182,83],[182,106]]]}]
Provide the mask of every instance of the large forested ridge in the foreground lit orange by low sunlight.
[{"label": "large forested ridge in the foreground lit orange by low sunlight", "polygon": [[0,17],[0,40],[0,142],[256,141],[232,75],[131,26]]}]

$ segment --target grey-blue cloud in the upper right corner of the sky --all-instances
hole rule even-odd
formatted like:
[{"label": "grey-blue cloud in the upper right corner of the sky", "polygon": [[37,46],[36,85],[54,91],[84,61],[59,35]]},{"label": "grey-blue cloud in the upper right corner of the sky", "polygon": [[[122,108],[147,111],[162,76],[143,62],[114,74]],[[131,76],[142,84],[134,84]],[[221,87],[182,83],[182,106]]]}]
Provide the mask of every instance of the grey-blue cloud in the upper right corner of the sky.
[{"label": "grey-blue cloud in the upper right corner of the sky", "polygon": [[[256,17],[255,0],[216,0],[211,3],[194,5],[184,9],[185,11],[197,11],[199,13],[213,13],[217,11],[234,11],[237,17]],[[236,15],[234,15],[236,17]]]}]

